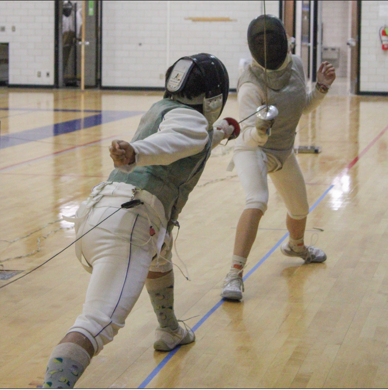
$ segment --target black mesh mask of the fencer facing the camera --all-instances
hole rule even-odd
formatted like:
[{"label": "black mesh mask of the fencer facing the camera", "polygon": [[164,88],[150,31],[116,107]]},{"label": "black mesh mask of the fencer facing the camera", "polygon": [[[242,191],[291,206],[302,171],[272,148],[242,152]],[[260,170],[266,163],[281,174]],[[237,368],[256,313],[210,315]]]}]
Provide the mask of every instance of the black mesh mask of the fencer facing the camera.
[{"label": "black mesh mask of the fencer facing the camera", "polygon": [[267,69],[281,67],[287,57],[288,39],[282,21],[274,15],[261,15],[248,27],[248,46],[252,57],[262,66],[264,62],[264,18],[267,41]]}]

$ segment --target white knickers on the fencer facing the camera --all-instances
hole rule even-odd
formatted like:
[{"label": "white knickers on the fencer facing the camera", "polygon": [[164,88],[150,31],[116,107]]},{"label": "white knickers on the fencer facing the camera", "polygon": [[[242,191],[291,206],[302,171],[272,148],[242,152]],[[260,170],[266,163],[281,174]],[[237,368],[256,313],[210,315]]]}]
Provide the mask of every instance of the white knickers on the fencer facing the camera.
[{"label": "white knickers on the fencer facing the camera", "polygon": [[266,155],[260,147],[235,151],[233,161],[245,191],[245,209],[259,209],[263,214],[267,210],[268,173],[288,215],[293,219],[303,219],[308,215],[306,184],[294,152],[283,165],[274,156]]}]

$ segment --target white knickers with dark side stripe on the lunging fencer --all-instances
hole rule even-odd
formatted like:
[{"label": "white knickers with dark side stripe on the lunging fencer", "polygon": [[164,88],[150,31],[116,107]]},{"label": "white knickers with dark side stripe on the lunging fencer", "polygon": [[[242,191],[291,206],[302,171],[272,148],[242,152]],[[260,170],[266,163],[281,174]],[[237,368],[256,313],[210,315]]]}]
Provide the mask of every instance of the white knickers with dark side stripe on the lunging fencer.
[{"label": "white knickers with dark side stripe on the lunging fencer", "polygon": [[[134,187],[125,183],[105,184],[103,190],[94,196],[99,201],[92,206],[87,219],[78,226],[77,236],[112,214],[120,204],[129,201],[131,188]],[[120,196],[125,193],[128,194],[127,198]],[[147,197],[142,196],[142,193],[147,194]],[[151,269],[156,272],[172,269],[170,263],[161,261],[159,264],[156,259],[153,261],[163,219],[163,225],[166,224],[166,219],[160,216],[161,212],[164,216],[162,204],[155,196],[142,190],[136,192],[135,199],[144,201],[144,205],[119,210],[81,238],[82,255],[93,271],[82,314],[68,333],[76,331],[84,334],[94,347],[94,355],[98,355],[124,326],[152,263]],[[156,233],[152,237],[148,218]],[[164,231],[161,229],[162,233]]]}]

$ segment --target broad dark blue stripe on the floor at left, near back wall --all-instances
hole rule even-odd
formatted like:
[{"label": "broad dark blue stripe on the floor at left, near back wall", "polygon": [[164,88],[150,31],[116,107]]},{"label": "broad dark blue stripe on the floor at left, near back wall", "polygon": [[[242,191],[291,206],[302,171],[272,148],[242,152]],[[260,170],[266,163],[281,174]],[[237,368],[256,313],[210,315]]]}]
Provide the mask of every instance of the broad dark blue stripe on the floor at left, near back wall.
[{"label": "broad dark blue stripe on the floor at left, near back wall", "polygon": [[73,119],[47,126],[36,127],[30,130],[12,134],[0,135],[0,149],[10,148],[24,143],[38,141],[56,135],[67,134],[73,131],[99,126],[104,123],[140,115],[143,111],[102,111],[99,114],[85,118]]}]

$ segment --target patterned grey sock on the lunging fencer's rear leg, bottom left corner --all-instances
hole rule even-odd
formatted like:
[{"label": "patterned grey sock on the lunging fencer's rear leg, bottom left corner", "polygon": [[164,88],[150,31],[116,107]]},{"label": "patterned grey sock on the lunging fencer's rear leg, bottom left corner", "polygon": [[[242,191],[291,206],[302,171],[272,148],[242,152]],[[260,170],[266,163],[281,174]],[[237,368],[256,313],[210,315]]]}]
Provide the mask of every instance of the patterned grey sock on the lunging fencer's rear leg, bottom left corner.
[{"label": "patterned grey sock on the lunging fencer's rear leg, bottom left corner", "polygon": [[47,364],[43,388],[73,388],[90,360],[89,354],[79,345],[58,344]]}]

